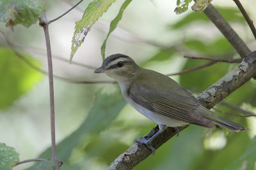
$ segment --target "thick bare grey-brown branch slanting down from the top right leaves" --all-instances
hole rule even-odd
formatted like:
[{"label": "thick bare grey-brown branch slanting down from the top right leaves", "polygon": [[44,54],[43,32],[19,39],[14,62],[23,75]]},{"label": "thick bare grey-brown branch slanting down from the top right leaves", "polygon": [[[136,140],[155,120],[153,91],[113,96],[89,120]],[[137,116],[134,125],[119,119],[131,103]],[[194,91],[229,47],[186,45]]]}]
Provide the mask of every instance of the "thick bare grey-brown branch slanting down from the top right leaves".
[{"label": "thick bare grey-brown branch slanting down from the top right leaves", "polygon": [[251,50],[246,46],[244,41],[237,35],[237,33],[230,27],[228,22],[220,15],[220,13],[210,4],[205,10],[205,15],[218,27],[221,33],[228,39],[230,44],[235,48],[237,53],[243,57],[251,53]]}]

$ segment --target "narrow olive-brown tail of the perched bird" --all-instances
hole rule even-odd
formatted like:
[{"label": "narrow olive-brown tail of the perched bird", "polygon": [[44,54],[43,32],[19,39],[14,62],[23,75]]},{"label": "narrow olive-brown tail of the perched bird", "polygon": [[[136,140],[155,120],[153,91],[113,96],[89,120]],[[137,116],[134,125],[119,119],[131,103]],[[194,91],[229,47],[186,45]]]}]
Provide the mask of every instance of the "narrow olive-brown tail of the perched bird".
[{"label": "narrow olive-brown tail of the perched bird", "polygon": [[235,122],[232,122],[230,120],[227,120],[223,117],[217,116],[214,118],[214,120],[211,120],[217,125],[221,125],[223,127],[226,127],[227,129],[230,129],[232,131],[241,132],[241,131],[249,131],[250,129],[247,129],[246,127],[243,127],[243,125],[236,124]]}]

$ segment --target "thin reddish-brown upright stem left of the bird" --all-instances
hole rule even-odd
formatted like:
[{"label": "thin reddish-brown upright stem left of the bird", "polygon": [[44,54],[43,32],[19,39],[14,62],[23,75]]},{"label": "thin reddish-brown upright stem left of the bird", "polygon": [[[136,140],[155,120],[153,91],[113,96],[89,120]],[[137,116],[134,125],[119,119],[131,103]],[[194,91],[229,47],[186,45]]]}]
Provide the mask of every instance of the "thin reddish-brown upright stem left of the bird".
[{"label": "thin reddish-brown upright stem left of the bird", "polygon": [[51,44],[49,37],[48,25],[49,22],[45,16],[45,12],[40,20],[40,25],[44,27],[45,43],[47,49],[47,60],[48,60],[48,77],[49,77],[49,89],[50,89],[50,106],[51,106],[51,143],[52,143],[52,160],[56,161],[54,170],[59,170],[58,158],[56,153],[56,142],[55,142],[55,115],[54,115],[54,90],[53,90],[53,75],[52,75],[52,54]]}]

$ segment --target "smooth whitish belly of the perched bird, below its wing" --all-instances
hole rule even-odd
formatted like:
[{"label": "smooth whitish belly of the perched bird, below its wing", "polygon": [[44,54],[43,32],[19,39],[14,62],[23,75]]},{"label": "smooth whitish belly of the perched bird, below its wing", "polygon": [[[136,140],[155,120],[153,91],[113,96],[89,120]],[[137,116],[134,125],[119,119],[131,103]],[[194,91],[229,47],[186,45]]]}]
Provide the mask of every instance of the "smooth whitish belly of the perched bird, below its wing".
[{"label": "smooth whitish belly of the perched bird, below its wing", "polygon": [[139,111],[142,115],[149,118],[150,120],[156,122],[157,124],[167,125],[168,127],[179,127],[179,126],[187,125],[187,123],[185,122],[180,122],[179,120],[166,117],[165,115],[161,115],[160,113],[154,113],[150,110],[147,110],[146,108],[132,101],[131,97],[129,96],[124,96],[124,98],[129,104],[131,104],[131,106],[134,109]]}]

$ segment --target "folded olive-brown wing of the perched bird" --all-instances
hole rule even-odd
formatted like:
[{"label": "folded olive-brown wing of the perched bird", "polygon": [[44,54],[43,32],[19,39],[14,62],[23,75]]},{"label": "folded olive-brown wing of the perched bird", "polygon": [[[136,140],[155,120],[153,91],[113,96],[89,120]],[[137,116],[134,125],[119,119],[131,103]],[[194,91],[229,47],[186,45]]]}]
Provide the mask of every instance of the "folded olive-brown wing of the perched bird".
[{"label": "folded olive-brown wing of the perched bird", "polygon": [[128,94],[135,103],[154,113],[188,124],[212,127],[211,120],[204,118],[196,111],[200,104],[195,101],[195,97],[191,97],[189,92],[184,91],[185,89],[179,87],[156,89],[159,89],[159,86],[155,83],[137,81],[132,83]]}]

